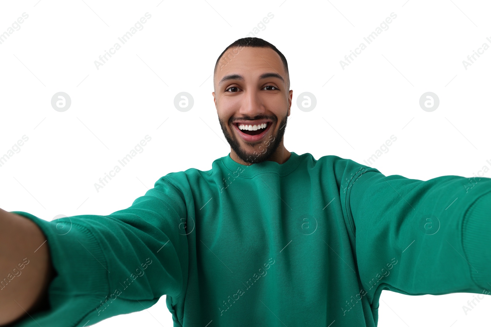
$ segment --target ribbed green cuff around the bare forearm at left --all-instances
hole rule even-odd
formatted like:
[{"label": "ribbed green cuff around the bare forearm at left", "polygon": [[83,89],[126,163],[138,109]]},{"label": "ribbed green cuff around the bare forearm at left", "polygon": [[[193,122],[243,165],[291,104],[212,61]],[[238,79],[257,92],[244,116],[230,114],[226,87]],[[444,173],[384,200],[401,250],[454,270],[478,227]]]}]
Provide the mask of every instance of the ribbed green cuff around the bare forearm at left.
[{"label": "ribbed green cuff around the bare forearm at left", "polygon": [[47,244],[42,246],[49,246],[56,271],[48,288],[50,310],[27,316],[13,327],[82,326],[84,317],[109,294],[110,268],[96,238],[71,217],[49,222],[27,212],[11,212],[32,220],[43,231]]}]

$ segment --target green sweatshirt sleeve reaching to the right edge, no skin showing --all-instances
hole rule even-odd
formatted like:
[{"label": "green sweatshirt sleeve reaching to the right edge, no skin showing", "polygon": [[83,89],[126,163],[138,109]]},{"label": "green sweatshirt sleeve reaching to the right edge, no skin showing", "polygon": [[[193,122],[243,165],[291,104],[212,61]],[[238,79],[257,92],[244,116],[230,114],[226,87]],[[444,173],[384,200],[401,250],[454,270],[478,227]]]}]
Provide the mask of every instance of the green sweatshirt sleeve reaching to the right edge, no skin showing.
[{"label": "green sweatshirt sleeve reaching to the right edge, no skin showing", "polygon": [[384,289],[407,295],[491,289],[491,178],[423,181],[365,167],[350,180],[346,199],[373,309]]}]

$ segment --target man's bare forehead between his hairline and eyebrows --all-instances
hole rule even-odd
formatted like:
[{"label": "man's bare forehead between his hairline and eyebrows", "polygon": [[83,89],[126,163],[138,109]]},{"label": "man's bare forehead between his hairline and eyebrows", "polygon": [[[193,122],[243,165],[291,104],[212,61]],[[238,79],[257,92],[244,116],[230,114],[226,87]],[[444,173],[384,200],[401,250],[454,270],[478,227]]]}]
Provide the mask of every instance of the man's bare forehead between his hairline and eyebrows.
[{"label": "man's bare forehead between his hairline and eyebrows", "polygon": [[265,72],[275,72],[285,77],[280,56],[271,48],[232,47],[221,56],[217,65],[214,82],[229,74],[244,75],[244,78],[258,77]]}]

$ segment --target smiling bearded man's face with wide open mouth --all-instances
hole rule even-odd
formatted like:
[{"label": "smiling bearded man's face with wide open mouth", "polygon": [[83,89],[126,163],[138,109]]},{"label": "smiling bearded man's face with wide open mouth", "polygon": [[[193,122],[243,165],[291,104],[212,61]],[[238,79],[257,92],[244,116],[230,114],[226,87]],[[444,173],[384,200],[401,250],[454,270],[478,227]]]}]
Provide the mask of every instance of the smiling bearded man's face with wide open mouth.
[{"label": "smiling bearded man's face with wide open mouth", "polygon": [[248,165],[268,160],[283,148],[293,91],[287,89],[283,62],[273,49],[239,49],[223,54],[212,95],[231,151]]}]

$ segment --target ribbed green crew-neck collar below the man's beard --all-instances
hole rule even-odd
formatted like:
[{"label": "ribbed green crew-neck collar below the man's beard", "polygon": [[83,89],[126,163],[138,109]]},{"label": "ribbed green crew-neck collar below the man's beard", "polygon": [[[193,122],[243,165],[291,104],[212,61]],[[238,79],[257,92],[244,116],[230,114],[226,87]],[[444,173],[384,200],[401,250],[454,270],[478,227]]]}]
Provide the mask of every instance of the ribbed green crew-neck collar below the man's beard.
[{"label": "ribbed green crew-neck collar below the man's beard", "polygon": [[279,176],[286,176],[295,170],[300,163],[300,155],[293,151],[290,153],[290,158],[288,158],[288,160],[282,164],[267,160],[247,166],[235,162],[230,157],[230,152],[220,159],[227,170],[229,170],[231,173],[235,173],[235,177],[238,177],[237,175],[252,177],[258,173],[277,173]]}]

